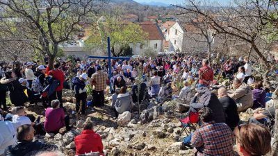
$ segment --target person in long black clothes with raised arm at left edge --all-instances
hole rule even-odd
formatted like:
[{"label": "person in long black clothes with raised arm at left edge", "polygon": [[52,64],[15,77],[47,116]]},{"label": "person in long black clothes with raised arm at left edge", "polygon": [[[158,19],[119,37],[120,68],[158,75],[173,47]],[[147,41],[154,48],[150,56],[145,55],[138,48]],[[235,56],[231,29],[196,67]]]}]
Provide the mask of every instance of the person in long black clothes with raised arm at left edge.
[{"label": "person in long black clothes with raised arm at left edge", "polygon": [[13,71],[7,71],[5,77],[0,80],[2,85],[7,85],[10,91],[10,101],[15,106],[23,106],[28,101],[24,93],[24,87],[19,83]]}]

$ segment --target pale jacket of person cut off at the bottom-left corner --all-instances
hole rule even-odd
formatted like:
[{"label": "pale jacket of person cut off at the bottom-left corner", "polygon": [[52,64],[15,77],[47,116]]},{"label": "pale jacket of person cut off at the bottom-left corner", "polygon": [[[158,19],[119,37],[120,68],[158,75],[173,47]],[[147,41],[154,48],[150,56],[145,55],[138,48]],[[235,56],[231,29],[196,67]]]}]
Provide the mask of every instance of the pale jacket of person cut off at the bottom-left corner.
[{"label": "pale jacket of person cut off at the bottom-left corner", "polygon": [[3,116],[0,114],[0,155],[3,155],[5,148],[16,143],[18,127],[19,123],[4,121]]}]

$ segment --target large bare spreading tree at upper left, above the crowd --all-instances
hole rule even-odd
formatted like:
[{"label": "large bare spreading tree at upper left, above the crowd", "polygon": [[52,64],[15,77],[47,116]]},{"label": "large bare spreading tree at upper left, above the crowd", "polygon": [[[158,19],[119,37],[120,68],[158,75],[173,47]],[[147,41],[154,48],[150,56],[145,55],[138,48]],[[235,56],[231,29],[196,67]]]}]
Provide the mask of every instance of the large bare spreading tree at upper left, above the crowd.
[{"label": "large bare spreading tree at upper left, above the crowd", "polygon": [[13,21],[32,46],[49,55],[53,68],[58,45],[72,40],[72,34],[86,17],[96,14],[106,0],[0,0],[4,17]]}]

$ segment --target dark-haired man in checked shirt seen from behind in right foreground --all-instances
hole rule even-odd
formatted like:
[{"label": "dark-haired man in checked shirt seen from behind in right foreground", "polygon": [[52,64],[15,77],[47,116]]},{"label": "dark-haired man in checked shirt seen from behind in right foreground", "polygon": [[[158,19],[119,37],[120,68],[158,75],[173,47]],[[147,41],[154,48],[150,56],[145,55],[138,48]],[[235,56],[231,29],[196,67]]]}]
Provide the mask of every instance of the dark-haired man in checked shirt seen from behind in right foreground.
[{"label": "dark-haired man in checked shirt seen from behind in right foreground", "polygon": [[213,111],[209,107],[199,110],[202,121],[191,139],[191,146],[197,149],[195,155],[234,155],[236,138],[225,123],[215,123]]}]

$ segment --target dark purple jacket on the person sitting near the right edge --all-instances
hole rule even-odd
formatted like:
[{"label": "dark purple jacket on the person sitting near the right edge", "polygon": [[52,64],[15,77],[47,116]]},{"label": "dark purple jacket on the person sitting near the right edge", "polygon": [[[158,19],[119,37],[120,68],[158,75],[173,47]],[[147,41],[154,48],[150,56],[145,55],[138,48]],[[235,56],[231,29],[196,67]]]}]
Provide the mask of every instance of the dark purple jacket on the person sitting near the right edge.
[{"label": "dark purple jacket on the person sitting near the right edge", "polygon": [[264,89],[259,88],[259,89],[253,89],[253,109],[256,109],[258,107],[265,107],[265,98],[266,98],[266,93]]}]

